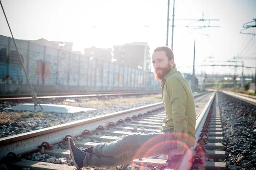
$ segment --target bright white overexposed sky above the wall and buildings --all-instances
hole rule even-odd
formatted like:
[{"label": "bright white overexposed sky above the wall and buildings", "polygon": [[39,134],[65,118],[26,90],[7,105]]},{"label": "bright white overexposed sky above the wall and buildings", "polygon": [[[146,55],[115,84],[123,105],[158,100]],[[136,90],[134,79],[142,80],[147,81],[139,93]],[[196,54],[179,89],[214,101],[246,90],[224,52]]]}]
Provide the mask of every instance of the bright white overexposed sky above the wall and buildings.
[{"label": "bright white overexposed sky above the wall and buildings", "polygon": [[[99,48],[108,48],[126,42],[148,42],[151,55],[154,48],[166,44],[168,0],[1,1],[16,39],[70,41],[74,42],[74,51],[84,51],[92,43]],[[172,9],[173,0],[170,0],[170,26]],[[201,65],[202,60],[209,56],[214,59],[208,60],[215,61],[226,61],[237,55],[256,57],[256,36],[239,34],[244,23],[256,18],[256,0],[175,1],[175,19],[200,19],[203,12],[204,19],[220,20],[211,21],[210,26],[221,27],[175,27],[173,48],[178,70],[192,73],[192,67],[189,66],[193,65],[194,38],[196,66]],[[191,22],[175,20],[175,26],[208,25],[208,22]],[[245,32],[256,33],[256,28]],[[11,36],[2,11],[0,34]],[[171,39],[172,27],[169,27],[169,47]],[[256,60],[243,61],[245,66],[256,66]],[[201,73],[204,68],[196,67],[195,71]],[[208,67],[206,72],[233,74],[234,68],[215,66]],[[241,74],[241,68],[237,72]],[[255,69],[244,69],[244,73],[255,74]]]}]

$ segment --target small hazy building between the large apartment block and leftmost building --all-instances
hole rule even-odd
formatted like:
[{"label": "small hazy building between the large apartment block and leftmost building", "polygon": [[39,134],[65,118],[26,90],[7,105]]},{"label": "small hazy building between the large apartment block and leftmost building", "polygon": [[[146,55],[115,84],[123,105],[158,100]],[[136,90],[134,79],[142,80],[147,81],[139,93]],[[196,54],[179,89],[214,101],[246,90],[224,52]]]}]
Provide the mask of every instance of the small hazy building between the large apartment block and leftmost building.
[{"label": "small hazy building between the large apartment block and leftmost building", "polygon": [[111,62],[112,48],[97,48],[94,46],[90,48],[84,48],[84,55],[87,57],[93,57],[95,59]]}]

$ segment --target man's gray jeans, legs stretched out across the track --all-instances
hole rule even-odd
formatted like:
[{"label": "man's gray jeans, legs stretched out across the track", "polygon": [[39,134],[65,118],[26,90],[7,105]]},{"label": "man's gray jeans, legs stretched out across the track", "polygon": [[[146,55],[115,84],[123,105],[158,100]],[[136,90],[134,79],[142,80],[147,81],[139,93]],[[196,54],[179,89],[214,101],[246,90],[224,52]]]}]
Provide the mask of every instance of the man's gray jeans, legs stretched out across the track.
[{"label": "man's gray jeans, legs stretched out across the track", "polygon": [[83,166],[113,167],[131,164],[134,159],[157,154],[168,155],[177,148],[177,139],[172,129],[148,134],[133,134],[108,144],[98,144],[93,153],[86,153]]}]

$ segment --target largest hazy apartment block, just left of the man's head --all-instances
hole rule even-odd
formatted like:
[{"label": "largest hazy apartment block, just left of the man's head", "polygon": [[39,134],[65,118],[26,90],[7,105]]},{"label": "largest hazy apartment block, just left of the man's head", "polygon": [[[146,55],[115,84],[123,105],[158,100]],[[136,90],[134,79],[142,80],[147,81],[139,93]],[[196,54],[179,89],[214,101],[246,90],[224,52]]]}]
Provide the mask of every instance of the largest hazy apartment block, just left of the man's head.
[{"label": "largest hazy apartment block, just left of the man's head", "polygon": [[143,71],[151,71],[150,54],[147,42],[132,42],[124,45],[114,45],[115,63],[131,68],[140,68]]}]

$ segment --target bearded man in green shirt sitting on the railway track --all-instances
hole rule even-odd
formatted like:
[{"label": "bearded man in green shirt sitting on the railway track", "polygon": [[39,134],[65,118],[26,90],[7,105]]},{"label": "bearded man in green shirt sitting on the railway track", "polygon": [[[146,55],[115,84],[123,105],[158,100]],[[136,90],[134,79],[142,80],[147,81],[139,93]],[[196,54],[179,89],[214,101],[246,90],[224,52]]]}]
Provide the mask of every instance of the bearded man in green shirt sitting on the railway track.
[{"label": "bearded man in green shirt sitting on the railway track", "polygon": [[77,168],[113,167],[157,154],[182,155],[195,145],[195,102],[189,82],[175,68],[168,47],[157,47],[152,55],[155,78],[161,81],[166,118],[160,132],[124,136],[108,144],[84,150],[69,138],[70,157]]}]

